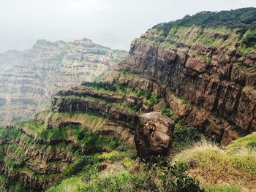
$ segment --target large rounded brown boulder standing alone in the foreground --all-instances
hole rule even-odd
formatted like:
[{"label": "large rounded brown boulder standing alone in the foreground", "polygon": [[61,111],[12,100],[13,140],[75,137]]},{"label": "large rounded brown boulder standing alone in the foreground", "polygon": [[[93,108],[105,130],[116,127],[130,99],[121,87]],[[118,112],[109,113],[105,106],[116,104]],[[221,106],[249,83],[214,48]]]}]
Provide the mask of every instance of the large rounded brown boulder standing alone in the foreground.
[{"label": "large rounded brown boulder standing alone in the foreground", "polygon": [[140,115],[135,129],[135,145],[141,158],[168,155],[173,144],[174,123],[161,112]]}]

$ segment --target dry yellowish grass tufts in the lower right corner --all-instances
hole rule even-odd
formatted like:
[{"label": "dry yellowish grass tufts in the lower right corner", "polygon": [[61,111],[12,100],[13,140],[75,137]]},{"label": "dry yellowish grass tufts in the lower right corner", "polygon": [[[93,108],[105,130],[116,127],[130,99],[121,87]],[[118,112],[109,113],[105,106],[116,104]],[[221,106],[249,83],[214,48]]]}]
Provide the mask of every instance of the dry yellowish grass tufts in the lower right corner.
[{"label": "dry yellowish grass tufts in the lower right corner", "polygon": [[213,142],[202,139],[182,151],[173,161],[186,164],[187,172],[197,177],[203,186],[230,185],[256,186],[255,149],[239,147],[228,153]]}]

